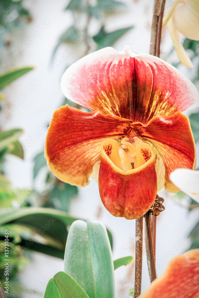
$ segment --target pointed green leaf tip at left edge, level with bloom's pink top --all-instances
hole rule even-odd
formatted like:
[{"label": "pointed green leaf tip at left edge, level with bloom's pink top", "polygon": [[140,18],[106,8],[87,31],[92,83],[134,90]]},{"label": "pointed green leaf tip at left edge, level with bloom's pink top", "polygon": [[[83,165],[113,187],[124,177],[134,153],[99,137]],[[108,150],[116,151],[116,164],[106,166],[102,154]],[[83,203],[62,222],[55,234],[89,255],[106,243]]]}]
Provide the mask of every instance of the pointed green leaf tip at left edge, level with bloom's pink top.
[{"label": "pointed green leaf tip at left edge, level with bloom's pink top", "polygon": [[4,74],[0,75],[0,90],[32,69],[33,67],[22,67],[9,69],[7,72],[4,72]]}]

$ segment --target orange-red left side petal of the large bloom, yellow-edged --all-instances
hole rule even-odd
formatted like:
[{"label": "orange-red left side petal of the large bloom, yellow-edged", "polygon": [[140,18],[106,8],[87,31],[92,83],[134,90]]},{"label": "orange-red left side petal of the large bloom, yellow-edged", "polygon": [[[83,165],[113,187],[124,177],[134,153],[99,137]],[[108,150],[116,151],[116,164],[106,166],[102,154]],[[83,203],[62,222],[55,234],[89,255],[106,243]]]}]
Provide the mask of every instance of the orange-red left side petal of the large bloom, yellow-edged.
[{"label": "orange-red left side petal of the large bloom, yellow-edged", "polygon": [[86,186],[100,159],[102,141],[127,136],[131,123],[115,115],[62,106],[54,112],[47,132],[45,156],[50,170],[64,182]]}]

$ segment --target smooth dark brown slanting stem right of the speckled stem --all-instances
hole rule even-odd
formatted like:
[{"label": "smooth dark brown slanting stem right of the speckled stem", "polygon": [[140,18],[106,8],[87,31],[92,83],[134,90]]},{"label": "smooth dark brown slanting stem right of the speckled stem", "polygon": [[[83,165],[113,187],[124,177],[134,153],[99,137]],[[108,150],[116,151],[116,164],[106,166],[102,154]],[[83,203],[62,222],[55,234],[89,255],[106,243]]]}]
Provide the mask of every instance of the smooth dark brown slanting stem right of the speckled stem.
[{"label": "smooth dark brown slanting stem right of the speckled stem", "polygon": [[153,251],[149,211],[145,213],[144,218],[145,218],[145,224],[146,224],[146,236],[147,236],[147,243],[148,243],[148,249],[149,249],[149,262],[150,262],[150,268],[151,268],[151,282],[152,282],[153,280],[156,279],[156,271],[155,271],[155,258],[154,258],[154,251]]}]

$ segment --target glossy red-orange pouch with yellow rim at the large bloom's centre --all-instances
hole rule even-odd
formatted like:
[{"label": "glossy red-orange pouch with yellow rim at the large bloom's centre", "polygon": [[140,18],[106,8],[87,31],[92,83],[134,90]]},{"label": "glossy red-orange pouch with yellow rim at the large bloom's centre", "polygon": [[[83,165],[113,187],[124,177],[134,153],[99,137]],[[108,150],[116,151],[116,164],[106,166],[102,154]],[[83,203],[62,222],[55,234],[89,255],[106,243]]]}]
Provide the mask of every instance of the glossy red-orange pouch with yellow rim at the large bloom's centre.
[{"label": "glossy red-orange pouch with yellow rim at the large bloom's centre", "polygon": [[149,210],[155,200],[157,176],[154,154],[149,145],[143,145],[146,162],[136,169],[127,171],[122,170],[119,163],[119,167],[114,163],[119,155],[117,142],[108,139],[101,145],[100,197],[105,208],[116,217],[138,218]]}]

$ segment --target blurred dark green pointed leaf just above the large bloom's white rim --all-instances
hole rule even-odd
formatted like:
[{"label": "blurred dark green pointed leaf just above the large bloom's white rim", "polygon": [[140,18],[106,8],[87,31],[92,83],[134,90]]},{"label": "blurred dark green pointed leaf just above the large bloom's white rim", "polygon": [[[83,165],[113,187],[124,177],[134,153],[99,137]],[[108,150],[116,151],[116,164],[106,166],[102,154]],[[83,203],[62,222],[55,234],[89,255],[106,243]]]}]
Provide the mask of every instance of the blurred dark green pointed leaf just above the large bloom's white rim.
[{"label": "blurred dark green pointed leaf just above the large bloom's white rim", "polygon": [[106,46],[112,46],[115,41],[118,40],[122,35],[124,35],[128,30],[132,29],[133,27],[119,29],[110,33],[105,32],[104,26],[101,27],[99,33],[93,36],[94,41],[98,44],[97,49],[104,48]]}]

